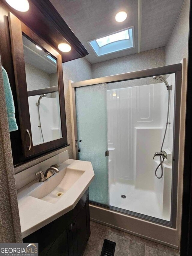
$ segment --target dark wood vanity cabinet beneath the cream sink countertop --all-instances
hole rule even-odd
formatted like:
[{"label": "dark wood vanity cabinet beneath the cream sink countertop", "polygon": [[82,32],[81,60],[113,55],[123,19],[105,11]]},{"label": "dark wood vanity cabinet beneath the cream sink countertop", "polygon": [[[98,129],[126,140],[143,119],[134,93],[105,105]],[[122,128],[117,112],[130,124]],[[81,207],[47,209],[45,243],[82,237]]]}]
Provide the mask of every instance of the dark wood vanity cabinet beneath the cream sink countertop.
[{"label": "dark wood vanity cabinet beneath the cream sink countertop", "polygon": [[90,236],[88,190],[73,210],[31,235],[24,243],[38,243],[39,256],[81,256]]}]

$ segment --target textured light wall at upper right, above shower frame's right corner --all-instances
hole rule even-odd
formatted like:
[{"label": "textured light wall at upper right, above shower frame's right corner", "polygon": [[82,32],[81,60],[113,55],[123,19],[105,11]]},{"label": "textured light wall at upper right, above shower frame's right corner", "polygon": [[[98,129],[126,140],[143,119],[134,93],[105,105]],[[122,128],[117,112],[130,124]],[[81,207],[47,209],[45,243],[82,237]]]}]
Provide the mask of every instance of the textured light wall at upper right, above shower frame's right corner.
[{"label": "textured light wall at upper right, above shower frame's right corner", "polygon": [[166,46],[166,65],[180,63],[188,56],[189,5],[185,0]]}]

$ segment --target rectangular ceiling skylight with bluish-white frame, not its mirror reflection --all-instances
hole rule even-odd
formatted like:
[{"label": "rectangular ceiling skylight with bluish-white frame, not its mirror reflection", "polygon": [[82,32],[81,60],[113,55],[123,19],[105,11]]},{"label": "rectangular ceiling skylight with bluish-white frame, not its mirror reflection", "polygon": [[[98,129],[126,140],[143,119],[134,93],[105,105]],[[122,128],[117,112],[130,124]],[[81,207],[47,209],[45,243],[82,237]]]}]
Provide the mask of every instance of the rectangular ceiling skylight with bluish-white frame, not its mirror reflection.
[{"label": "rectangular ceiling skylight with bluish-white frame, not its mirror reflection", "polygon": [[88,44],[91,45],[98,57],[134,48],[134,27],[88,41]]}]

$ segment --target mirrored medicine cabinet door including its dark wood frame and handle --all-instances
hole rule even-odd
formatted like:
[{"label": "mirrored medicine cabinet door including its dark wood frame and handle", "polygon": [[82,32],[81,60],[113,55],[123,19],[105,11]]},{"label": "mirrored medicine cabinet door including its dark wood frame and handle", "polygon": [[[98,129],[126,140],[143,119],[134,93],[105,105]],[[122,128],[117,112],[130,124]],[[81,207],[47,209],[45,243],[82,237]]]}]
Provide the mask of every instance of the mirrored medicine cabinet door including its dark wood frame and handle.
[{"label": "mirrored medicine cabinet door including its dark wood frame and handle", "polygon": [[62,57],[11,13],[9,26],[22,150],[31,157],[67,145]]}]

